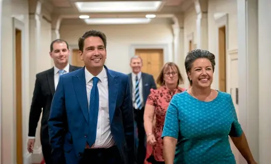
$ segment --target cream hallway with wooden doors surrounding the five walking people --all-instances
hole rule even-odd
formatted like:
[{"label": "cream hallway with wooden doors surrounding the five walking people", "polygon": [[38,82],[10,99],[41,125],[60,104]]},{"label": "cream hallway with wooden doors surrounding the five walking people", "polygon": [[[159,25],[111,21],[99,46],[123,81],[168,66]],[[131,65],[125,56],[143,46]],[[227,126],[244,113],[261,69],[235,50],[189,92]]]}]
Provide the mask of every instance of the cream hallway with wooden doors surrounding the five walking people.
[{"label": "cream hallway with wooden doors surrounding the five walking people", "polygon": [[[40,122],[34,152],[27,152],[36,74],[54,66],[49,52],[57,38],[69,43],[69,63],[83,66],[78,38],[90,29],[107,35],[110,69],[128,74],[130,58],[139,55],[144,72],[157,77],[172,61],[185,79],[183,88],[190,86],[187,52],[214,53],[212,88],[232,95],[256,161],[270,164],[271,0],[82,1],[0,0],[1,164],[42,161]],[[246,164],[234,145],[232,150],[237,164]]]}]

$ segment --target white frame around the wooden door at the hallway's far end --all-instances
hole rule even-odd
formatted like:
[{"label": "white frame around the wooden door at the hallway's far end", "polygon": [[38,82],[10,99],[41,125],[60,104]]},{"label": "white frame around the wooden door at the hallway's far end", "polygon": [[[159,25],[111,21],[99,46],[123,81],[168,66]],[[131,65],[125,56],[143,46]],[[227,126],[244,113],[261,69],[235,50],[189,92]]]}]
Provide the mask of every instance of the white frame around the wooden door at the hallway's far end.
[{"label": "white frame around the wooden door at the hallway's far end", "polygon": [[[163,49],[163,62],[166,63],[166,62],[171,61],[170,59],[173,60],[172,48],[170,50],[168,44],[131,44],[129,47],[130,58],[136,55],[136,49]],[[129,62],[130,62],[130,58],[129,58]],[[130,68],[130,71],[132,71],[131,68]]]}]

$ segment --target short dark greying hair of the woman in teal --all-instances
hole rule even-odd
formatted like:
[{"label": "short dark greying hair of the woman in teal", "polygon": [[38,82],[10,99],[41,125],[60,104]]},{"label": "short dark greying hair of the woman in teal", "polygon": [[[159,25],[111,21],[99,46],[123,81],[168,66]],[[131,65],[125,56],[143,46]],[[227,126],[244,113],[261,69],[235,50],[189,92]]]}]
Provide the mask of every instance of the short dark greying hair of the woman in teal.
[{"label": "short dark greying hair of the woman in teal", "polygon": [[[208,59],[212,64],[213,71],[215,71],[215,65],[216,65],[215,55],[207,50],[195,49],[188,52],[185,57],[184,66],[185,66],[187,77],[188,77],[188,72],[191,70],[193,62],[198,58]],[[189,80],[190,85],[192,85],[193,82],[192,80],[189,79],[189,77],[188,77],[188,80]]]}]

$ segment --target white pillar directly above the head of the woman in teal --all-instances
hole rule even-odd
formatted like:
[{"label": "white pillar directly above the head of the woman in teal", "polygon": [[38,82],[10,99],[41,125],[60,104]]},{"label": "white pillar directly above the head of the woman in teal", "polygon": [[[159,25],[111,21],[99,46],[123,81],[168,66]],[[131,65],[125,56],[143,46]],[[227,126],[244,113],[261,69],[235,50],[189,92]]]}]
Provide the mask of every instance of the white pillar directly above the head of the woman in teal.
[{"label": "white pillar directly above the head of the woman in teal", "polygon": [[208,50],[208,0],[195,0],[197,48]]}]

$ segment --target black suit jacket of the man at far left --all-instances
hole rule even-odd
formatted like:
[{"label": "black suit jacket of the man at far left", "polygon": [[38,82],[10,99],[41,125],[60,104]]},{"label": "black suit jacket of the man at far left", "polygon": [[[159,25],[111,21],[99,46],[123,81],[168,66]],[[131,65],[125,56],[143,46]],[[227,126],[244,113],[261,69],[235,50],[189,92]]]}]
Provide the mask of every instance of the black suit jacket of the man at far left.
[{"label": "black suit jacket of the man at far left", "polygon": [[[69,72],[75,71],[79,68],[81,67],[70,65]],[[28,136],[35,136],[38,120],[42,111],[40,130],[40,141],[42,145],[49,144],[47,123],[54,93],[54,67],[36,74],[35,88],[29,114]]]}]

